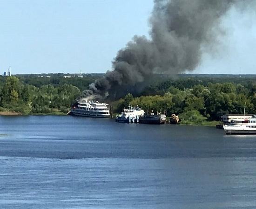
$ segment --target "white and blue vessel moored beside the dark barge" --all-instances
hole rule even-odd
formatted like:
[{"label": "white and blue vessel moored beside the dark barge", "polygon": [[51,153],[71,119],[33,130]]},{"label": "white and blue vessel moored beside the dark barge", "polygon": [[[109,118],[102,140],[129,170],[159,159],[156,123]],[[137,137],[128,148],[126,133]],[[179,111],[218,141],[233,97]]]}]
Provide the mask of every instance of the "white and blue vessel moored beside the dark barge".
[{"label": "white and blue vessel moored beside the dark barge", "polygon": [[139,107],[130,107],[123,109],[121,115],[117,115],[115,122],[119,123],[139,123],[139,116],[144,115],[144,110]]}]

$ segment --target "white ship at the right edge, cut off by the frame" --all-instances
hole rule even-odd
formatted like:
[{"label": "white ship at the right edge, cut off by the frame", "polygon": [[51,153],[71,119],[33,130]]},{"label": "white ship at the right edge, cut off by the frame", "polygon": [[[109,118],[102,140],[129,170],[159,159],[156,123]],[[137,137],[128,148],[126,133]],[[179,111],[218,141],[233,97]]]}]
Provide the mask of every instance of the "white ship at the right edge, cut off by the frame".
[{"label": "white ship at the right edge, cut off by the frame", "polygon": [[256,115],[244,119],[242,123],[231,121],[230,124],[224,124],[223,129],[226,134],[256,134]]}]

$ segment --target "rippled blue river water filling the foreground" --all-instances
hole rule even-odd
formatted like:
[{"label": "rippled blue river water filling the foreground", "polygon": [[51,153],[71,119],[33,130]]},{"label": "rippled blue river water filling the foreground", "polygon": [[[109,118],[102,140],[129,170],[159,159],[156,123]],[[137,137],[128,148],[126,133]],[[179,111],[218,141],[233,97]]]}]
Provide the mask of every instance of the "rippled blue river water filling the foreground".
[{"label": "rippled blue river water filling the foreground", "polygon": [[255,209],[256,137],[1,116],[0,208]]}]

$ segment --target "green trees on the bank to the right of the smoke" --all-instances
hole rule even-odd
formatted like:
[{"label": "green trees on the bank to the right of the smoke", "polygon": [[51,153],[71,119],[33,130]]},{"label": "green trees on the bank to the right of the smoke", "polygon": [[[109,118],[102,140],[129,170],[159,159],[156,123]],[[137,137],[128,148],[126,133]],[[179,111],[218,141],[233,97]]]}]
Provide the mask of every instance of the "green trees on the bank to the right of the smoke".
[{"label": "green trees on the bank to the right of the smoke", "polygon": [[[179,78],[150,85],[140,97],[127,94],[116,110],[128,104],[139,105],[146,112],[175,113],[183,123],[219,120],[223,114],[256,114],[256,79]],[[226,82],[225,82],[226,81]]]}]

